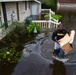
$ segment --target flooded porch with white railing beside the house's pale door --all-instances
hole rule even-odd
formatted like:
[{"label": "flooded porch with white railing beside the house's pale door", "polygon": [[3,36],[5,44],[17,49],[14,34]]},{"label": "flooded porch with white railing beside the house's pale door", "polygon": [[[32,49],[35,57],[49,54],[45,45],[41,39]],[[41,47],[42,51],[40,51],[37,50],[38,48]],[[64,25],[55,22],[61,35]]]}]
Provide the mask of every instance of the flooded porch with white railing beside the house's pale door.
[{"label": "flooded porch with white railing beside the house's pale door", "polygon": [[[48,20],[44,18],[44,15],[50,14]],[[50,28],[51,30],[57,28],[57,26],[61,23],[58,20],[55,20],[51,17],[52,14],[55,14],[51,9],[42,9],[40,15],[31,15],[32,22],[40,25],[41,28]]]}]

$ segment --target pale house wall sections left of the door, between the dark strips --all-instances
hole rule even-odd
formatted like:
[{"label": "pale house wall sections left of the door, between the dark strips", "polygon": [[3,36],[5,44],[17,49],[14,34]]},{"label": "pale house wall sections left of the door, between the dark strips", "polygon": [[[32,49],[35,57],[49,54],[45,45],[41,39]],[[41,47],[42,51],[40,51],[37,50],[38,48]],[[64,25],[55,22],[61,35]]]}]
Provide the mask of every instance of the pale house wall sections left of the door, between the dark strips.
[{"label": "pale house wall sections left of the door, between the dark strips", "polygon": [[[23,21],[26,17],[31,15],[31,9],[28,7],[29,3],[30,2],[27,3],[27,10],[25,10],[25,2],[18,2],[19,21]],[[15,13],[15,20],[18,20],[16,2],[7,2],[5,4],[7,20],[11,20],[12,11]]]}]

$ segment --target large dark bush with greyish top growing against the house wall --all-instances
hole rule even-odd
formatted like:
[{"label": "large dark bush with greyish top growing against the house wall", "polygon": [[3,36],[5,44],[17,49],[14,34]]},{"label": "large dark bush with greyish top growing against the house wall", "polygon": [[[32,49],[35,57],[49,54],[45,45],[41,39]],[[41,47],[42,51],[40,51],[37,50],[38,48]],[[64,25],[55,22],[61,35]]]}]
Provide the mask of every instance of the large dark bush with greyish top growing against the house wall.
[{"label": "large dark bush with greyish top growing against the house wall", "polygon": [[7,34],[0,40],[0,49],[8,47],[14,48],[17,51],[21,51],[25,43],[34,39],[34,35],[29,36],[24,23],[15,21],[13,22],[13,25],[8,27],[7,29],[9,29]]}]

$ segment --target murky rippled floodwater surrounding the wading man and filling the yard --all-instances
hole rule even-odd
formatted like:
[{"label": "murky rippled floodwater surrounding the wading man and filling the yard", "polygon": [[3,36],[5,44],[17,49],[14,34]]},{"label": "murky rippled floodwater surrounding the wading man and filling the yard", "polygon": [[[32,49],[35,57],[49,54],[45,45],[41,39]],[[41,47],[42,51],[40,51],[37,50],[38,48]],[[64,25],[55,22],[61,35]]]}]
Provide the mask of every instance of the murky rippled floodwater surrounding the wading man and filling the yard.
[{"label": "murky rippled floodwater surrounding the wading man and filling the yard", "polygon": [[[59,11],[63,16],[64,27],[71,31],[76,31],[75,12]],[[65,63],[52,58],[54,42],[51,40],[52,32],[47,35],[38,35],[34,42],[24,45],[21,61],[9,70],[0,69],[0,75],[76,75],[76,37],[73,42],[73,50],[65,57],[69,60]],[[75,35],[76,36],[76,35]],[[6,72],[7,71],[7,72]],[[5,72],[5,73],[4,73]],[[11,72],[11,73],[10,73]]]}]

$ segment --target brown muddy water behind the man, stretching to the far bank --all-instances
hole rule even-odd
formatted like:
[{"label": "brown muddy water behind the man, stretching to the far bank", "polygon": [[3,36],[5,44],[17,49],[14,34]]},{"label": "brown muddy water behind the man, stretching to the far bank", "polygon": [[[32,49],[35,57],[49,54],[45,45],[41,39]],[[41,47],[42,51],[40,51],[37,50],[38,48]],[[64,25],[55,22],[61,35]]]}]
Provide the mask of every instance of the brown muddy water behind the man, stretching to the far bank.
[{"label": "brown muddy water behind the man, stretching to the far bank", "polygon": [[62,15],[61,22],[67,30],[74,29],[76,31],[76,11],[58,11],[57,13]]}]

